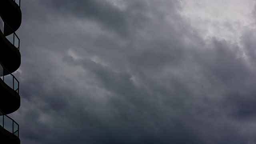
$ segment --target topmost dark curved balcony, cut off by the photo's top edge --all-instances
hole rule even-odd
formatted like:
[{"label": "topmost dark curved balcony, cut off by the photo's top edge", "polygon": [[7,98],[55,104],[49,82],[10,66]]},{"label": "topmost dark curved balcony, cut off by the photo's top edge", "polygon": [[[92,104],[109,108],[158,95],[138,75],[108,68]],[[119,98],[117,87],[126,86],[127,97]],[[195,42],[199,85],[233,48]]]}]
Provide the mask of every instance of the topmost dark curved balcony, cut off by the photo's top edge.
[{"label": "topmost dark curved balcony, cut off by the photo's top edge", "polygon": [[21,25],[20,0],[0,0],[0,14],[12,30],[18,30]]}]

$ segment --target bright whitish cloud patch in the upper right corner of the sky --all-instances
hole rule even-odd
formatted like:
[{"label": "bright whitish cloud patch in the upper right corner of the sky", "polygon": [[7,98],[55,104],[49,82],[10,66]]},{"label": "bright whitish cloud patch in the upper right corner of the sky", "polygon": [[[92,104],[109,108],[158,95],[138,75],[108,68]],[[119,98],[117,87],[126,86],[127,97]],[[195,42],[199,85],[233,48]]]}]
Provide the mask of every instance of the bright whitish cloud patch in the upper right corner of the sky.
[{"label": "bright whitish cloud patch in the upper right corner of the sky", "polygon": [[202,38],[217,37],[240,44],[245,28],[255,28],[254,0],[180,0],[181,15]]}]

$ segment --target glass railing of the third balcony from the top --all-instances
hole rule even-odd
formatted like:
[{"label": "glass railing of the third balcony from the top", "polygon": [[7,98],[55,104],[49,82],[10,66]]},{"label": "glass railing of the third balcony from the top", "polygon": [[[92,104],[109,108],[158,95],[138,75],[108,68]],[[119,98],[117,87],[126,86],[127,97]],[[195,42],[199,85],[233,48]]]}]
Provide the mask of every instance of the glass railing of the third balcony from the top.
[{"label": "glass railing of the third balcony from the top", "polygon": [[0,78],[7,84],[10,88],[15,90],[19,94],[19,81],[8,71],[4,68],[4,66],[0,62]]}]

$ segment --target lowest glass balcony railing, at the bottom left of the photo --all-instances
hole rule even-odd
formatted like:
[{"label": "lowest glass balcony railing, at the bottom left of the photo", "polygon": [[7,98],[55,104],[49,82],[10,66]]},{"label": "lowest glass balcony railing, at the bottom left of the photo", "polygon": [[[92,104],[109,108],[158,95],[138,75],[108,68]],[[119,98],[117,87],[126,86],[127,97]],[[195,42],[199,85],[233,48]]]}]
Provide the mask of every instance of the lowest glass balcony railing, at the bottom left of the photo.
[{"label": "lowest glass balcony railing, at the bottom left of the photo", "polygon": [[0,126],[19,137],[19,125],[12,118],[4,114],[2,110],[0,110]]}]

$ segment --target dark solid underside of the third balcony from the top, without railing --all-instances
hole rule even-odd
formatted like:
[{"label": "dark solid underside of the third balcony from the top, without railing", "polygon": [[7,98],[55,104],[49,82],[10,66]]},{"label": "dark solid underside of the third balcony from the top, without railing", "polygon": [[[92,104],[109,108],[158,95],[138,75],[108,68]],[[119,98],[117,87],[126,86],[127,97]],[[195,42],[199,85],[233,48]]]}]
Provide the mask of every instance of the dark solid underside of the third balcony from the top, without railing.
[{"label": "dark solid underside of the third balcony from the top, without railing", "polygon": [[0,79],[0,92],[0,110],[4,114],[10,114],[20,108],[19,94],[5,84],[2,79]]}]

